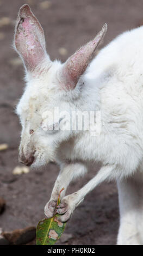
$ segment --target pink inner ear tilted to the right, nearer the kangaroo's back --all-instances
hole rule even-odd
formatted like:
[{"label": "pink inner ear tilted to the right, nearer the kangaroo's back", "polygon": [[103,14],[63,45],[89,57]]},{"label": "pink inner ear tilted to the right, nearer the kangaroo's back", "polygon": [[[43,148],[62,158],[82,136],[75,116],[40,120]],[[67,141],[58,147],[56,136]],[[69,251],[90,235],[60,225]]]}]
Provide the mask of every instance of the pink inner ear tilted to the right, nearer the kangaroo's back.
[{"label": "pink inner ear tilted to the right, nearer the kangaroo's back", "polygon": [[101,31],[88,44],[79,48],[69,59],[67,59],[61,70],[61,81],[64,89],[72,90],[76,87],[79,77],[83,75],[96,47],[107,32],[107,24],[104,24]]}]

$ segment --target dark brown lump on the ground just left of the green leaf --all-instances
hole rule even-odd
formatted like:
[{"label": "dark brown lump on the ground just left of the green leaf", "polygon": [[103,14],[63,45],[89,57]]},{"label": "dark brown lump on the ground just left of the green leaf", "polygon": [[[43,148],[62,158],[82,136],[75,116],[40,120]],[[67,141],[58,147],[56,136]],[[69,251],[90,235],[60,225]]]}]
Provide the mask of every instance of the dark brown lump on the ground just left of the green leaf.
[{"label": "dark brown lump on the ground just left of the green leaf", "polygon": [[3,232],[2,235],[9,241],[10,245],[25,245],[35,239],[36,228],[15,229],[14,231]]}]

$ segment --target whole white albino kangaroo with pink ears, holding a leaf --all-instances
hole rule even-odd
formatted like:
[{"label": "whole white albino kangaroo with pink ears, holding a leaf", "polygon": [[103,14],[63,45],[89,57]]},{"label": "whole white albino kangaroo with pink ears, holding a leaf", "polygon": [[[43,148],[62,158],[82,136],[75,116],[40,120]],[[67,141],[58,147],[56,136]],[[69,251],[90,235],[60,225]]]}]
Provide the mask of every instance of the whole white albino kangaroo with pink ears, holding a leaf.
[{"label": "whole white albino kangaroo with pink ears, holding a leaf", "polygon": [[[92,60],[105,24],[88,44],[62,64],[46,52],[43,29],[27,4],[20,8],[15,28],[15,49],[26,70],[26,89],[17,105],[22,124],[20,161],[38,167],[54,161],[60,173],[45,206],[52,217],[69,220],[91,190],[106,179],[117,180],[120,204],[118,245],[143,244],[143,27],[118,36]],[[53,120],[58,109],[60,118]],[[100,132],[65,129],[64,112],[94,112]],[[96,112],[101,118],[96,118]],[[86,118],[85,118],[86,119]],[[75,124],[76,117],[73,118]],[[83,123],[82,123],[83,124]],[[59,129],[57,129],[59,127]],[[75,126],[74,126],[75,127]],[[96,131],[96,130],[95,130]],[[84,187],[65,196],[71,180],[101,169]],[[59,191],[61,204],[57,209]]]}]

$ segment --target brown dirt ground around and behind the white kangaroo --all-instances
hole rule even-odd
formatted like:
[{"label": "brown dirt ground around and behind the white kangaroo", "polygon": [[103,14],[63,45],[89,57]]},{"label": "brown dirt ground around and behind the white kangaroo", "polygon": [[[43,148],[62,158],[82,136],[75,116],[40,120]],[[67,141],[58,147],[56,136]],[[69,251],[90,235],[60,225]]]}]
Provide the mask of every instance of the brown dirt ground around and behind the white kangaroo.
[{"label": "brown dirt ground around and behind the white kangaroo", "polygon": [[[19,164],[17,148],[21,130],[14,109],[24,88],[24,72],[12,43],[17,11],[24,3],[30,4],[45,30],[51,59],[62,61],[93,38],[104,22],[108,24],[108,32],[102,47],[116,35],[134,28],[143,17],[143,1],[136,0],[0,0],[0,144],[9,145],[8,150],[0,151],[0,196],[7,203],[0,215],[0,227],[5,231],[36,226],[44,217],[43,208],[58,175],[55,164],[28,174],[13,174]],[[83,180],[73,182],[68,193],[78,190],[97,169],[95,166]],[[118,228],[116,184],[104,182],[73,213],[65,230],[69,240],[61,238],[57,244],[114,245]]]}]

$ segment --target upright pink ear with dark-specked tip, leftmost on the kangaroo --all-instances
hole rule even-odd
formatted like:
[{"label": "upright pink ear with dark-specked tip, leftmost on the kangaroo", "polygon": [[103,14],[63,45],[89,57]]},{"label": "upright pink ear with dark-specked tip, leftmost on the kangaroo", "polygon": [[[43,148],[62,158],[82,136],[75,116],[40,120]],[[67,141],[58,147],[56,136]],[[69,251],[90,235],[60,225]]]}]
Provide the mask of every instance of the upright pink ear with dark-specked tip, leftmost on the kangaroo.
[{"label": "upright pink ear with dark-specked tip, leftmost on the kangaroo", "polygon": [[14,45],[29,71],[33,71],[47,56],[43,29],[28,4],[18,12]]}]

